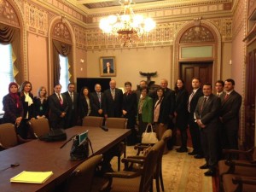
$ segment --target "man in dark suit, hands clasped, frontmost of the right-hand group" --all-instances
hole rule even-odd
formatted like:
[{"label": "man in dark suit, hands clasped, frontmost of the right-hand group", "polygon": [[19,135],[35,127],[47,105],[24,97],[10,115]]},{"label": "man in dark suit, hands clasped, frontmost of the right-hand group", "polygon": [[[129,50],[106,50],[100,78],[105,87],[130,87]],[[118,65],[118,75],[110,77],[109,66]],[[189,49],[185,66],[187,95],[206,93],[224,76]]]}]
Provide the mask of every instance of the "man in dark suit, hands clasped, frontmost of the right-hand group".
[{"label": "man in dark suit, hands clasped, frontmost of the right-hand group", "polygon": [[203,94],[197,102],[195,108],[195,119],[200,127],[201,147],[204,151],[206,164],[200,166],[201,169],[208,169],[205,176],[215,175],[215,166],[218,163],[218,113],[220,109],[220,99],[212,94],[212,84],[203,85]]}]

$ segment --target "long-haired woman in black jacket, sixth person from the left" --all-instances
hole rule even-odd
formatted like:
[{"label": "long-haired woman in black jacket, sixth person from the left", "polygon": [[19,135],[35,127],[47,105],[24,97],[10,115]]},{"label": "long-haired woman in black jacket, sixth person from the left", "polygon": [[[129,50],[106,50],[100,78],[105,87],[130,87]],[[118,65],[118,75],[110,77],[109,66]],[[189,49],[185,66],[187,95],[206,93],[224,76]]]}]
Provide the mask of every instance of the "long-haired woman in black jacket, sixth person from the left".
[{"label": "long-haired woman in black jacket, sixth person from the left", "polygon": [[84,119],[85,116],[90,116],[91,112],[91,100],[90,90],[88,87],[82,87],[79,96],[79,117]]}]

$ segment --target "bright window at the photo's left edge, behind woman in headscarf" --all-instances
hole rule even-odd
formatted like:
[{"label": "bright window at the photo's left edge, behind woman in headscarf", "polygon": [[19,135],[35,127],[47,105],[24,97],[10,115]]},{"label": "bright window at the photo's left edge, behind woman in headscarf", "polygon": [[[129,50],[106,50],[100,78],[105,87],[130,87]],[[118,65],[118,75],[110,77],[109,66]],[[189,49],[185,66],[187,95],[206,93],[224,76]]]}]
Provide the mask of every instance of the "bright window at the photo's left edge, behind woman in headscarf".
[{"label": "bright window at the photo's left edge, behind woman in headscarf", "polygon": [[0,44],[0,113],[3,112],[3,96],[9,93],[9,83],[15,81],[13,73],[12,46]]}]

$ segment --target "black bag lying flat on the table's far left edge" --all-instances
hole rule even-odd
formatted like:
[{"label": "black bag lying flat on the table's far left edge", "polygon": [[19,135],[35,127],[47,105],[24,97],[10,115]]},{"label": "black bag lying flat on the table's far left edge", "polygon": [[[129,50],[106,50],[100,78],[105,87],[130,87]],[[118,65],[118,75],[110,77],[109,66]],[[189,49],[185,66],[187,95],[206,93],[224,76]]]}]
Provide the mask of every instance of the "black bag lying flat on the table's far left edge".
[{"label": "black bag lying flat on the table's far left edge", "polygon": [[45,142],[57,142],[67,139],[67,133],[63,129],[51,130],[44,136],[39,137],[40,140]]}]

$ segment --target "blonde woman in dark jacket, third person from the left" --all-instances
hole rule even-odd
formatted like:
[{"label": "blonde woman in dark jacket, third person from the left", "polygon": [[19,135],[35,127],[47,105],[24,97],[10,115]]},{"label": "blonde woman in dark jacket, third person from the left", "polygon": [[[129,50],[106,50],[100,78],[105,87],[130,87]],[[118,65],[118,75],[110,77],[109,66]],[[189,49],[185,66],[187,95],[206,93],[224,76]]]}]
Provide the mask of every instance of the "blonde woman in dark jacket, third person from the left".
[{"label": "blonde woman in dark jacket, third person from the left", "polygon": [[48,118],[49,107],[48,107],[47,91],[44,86],[39,87],[38,96],[34,97],[34,105],[35,105],[35,117],[37,119]]}]

